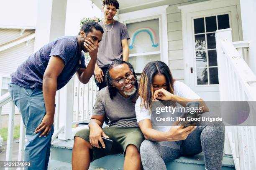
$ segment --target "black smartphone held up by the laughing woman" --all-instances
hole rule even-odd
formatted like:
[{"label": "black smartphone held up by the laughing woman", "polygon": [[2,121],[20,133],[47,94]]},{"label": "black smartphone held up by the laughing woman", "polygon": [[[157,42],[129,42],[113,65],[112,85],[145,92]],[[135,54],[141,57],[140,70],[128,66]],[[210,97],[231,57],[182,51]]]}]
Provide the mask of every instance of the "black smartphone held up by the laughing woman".
[{"label": "black smartphone held up by the laughing woman", "polygon": [[188,126],[190,126],[190,125],[192,125],[194,123],[194,121],[189,121],[189,120],[187,120],[187,118],[188,117],[190,117],[190,118],[197,117],[197,112],[198,111],[196,111],[195,108],[199,108],[199,105],[200,105],[200,103],[197,102],[197,101],[195,101],[195,102],[187,102],[186,110],[187,110],[187,108],[189,108],[189,112],[185,113],[184,117],[186,118],[186,120],[180,122],[180,124],[185,125],[184,128],[187,128]]}]

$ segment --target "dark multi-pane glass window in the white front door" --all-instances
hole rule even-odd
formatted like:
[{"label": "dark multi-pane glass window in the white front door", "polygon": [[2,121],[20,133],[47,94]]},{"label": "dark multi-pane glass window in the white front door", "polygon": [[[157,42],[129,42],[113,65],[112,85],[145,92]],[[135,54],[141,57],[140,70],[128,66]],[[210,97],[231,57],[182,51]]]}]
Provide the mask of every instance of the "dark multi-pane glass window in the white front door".
[{"label": "dark multi-pane glass window in the white front door", "polygon": [[197,85],[218,84],[215,31],[230,28],[229,15],[214,15],[194,20]]}]

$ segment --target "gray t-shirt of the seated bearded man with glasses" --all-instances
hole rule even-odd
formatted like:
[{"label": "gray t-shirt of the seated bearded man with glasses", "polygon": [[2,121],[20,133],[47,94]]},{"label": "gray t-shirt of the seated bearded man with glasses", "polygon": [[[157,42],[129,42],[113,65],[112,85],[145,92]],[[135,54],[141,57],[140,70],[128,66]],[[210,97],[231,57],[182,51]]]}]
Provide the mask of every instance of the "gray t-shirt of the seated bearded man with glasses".
[{"label": "gray t-shirt of the seated bearded man with glasses", "polygon": [[97,94],[93,115],[108,117],[109,126],[138,128],[135,113],[134,97],[125,98],[119,92],[110,98],[108,86],[104,87]]}]

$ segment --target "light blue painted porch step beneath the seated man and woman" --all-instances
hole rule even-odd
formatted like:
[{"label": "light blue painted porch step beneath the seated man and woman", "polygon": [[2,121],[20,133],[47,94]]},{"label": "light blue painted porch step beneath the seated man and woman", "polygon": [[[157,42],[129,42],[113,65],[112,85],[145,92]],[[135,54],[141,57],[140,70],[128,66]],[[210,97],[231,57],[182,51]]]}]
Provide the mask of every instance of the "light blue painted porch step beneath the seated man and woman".
[{"label": "light blue painted porch step beneath the seated man and woman", "polygon": [[[78,130],[84,128],[87,128],[87,126],[73,128],[72,134],[74,135]],[[67,166],[68,169],[71,169],[73,144],[74,140],[54,141],[51,146],[51,160],[49,162],[49,170],[60,170],[58,168],[62,166]],[[95,168],[103,168],[104,170],[121,170],[123,169],[123,161],[123,154],[108,155],[93,161],[90,164],[90,170],[94,170]],[[176,160],[167,163],[166,167],[168,170],[205,170],[205,161],[203,154],[200,153],[192,157],[179,157]],[[61,170],[66,169],[62,167]],[[223,155],[222,170],[235,170],[232,156]]]}]

